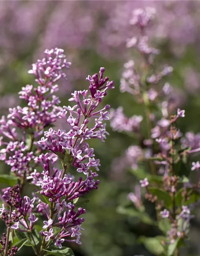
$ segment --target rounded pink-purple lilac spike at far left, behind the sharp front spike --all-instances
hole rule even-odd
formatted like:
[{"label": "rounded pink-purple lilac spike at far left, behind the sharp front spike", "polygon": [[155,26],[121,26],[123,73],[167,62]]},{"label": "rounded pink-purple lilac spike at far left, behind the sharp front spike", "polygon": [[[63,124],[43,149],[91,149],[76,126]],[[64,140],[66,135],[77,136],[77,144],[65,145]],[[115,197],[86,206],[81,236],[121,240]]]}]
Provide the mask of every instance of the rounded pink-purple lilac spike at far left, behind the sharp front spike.
[{"label": "rounded pink-purple lilac spike at far left, behind the sharp front spike", "polygon": [[56,121],[62,110],[59,98],[54,95],[58,91],[55,83],[66,77],[64,68],[69,68],[71,63],[62,49],[45,50],[44,53],[46,57],[32,64],[32,70],[28,71],[34,74],[38,87],[28,84],[19,92],[27,106],[10,108],[7,118],[2,116],[0,120],[0,133],[10,140],[7,142],[1,137],[0,160],[10,165],[11,172],[18,177],[30,173],[31,160],[36,157],[32,151],[34,141],[40,138],[44,128]]}]

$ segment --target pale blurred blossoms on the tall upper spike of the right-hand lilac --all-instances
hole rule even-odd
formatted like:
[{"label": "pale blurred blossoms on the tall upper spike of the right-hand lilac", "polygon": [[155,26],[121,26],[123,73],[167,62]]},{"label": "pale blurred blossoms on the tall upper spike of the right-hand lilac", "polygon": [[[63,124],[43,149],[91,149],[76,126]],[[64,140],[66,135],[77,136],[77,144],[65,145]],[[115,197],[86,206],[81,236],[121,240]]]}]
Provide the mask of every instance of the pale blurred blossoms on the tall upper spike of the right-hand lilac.
[{"label": "pale blurred blossoms on the tall upper spike of the right-hand lilac", "polygon": [[[138,9],[133,12],[131,23],[138,27],[140,30],[140,36],[138,38],[135,36],[134,38],[128,39],[126,44],[127,48],[135,48],[141,54],[144,58],[144,64],[142,65],[146,66],[147,70],[150,68],[155,56],[159,54],[159,50],[149,46],[150,40],[148,36],[145,35],[146,27],[149,26],[149,23],[153,20],[154,14],[155,10],[152,8],[146,8],[144,10]],[[148,123],[155,121],[156,117],[153,113],[148,111],[147,106],[150,106],[150,104],[157,104],[158,97],[162,98],[165,103],[165,109],[162,110],[164,117],[157,121],[157,125],[155,127],[151,126],[151,136],[148,134],[147,138],[144,138],[140,129],[141,122],[144,119],[143,116],[134,115],[127,118],[123,113],[122,107],[119,107],[117,110],[112,110],[110,114],[110,124],[113,130],[118,132],[129,132],[132,135],[134,134],[134,136],[140,140],[140,144],[144,145],[144,153],[142,148],[136,145],[130,147],[130,149],[133,148],[134,150],[127,150],[126,158],[129,160],[126,160],[126,163],[131,162],[130,166],[136,169],[138,166],[138,160],[144,158],[148,159],[152,156],[152,139],[159,137],[160,145],[162,144],[163,147],[168,147],[168,139],[163,138],[162,134],[165,134],[168,130],[168,126],[170,125],[170,121],[167,117],[170,114],[169,112],[173,109],[170,109],[168,99],[172,90],[168,83],[165,83],[161,88],[157,86],[157,83],[160,82],[164,76],[172,72],[173,68],[170,66],[164,66],[160,72],[150,74],[146,72],[145,74],[141,74],[141,67],[137,66],[134,60],[126,62],[124,64],[124,68],[125,71],[122,73],[122,78],[120,80],[120,90],[121,92],[129,92],[134,95],[139,103],[143,103],[146,106]],[[162,103],[161,106],[164,105],[164,103]],[[180,115],[177,115],[177,118],[179,116]],[[134,154],[129,154],[129,152],[133,151]]]}]

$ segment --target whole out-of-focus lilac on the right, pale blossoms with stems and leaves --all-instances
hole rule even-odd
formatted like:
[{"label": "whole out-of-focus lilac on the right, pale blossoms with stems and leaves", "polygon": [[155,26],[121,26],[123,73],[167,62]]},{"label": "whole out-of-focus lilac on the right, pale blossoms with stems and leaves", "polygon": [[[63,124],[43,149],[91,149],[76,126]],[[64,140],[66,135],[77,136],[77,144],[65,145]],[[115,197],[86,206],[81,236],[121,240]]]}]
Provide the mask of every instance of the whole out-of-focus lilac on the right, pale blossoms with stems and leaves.
[{"label": "whole out-of-focus lilac on the right, pale blossoms with stems and leaves", "polygon": [[[164,66],[160,72],[156,72],[155,65],[153,66],[154,58],[159,54],[159,50],[149,46],[150,40],[146,36],[147,26],[154,17],[151,9],[139,9],[133,13],[134,16],[130,23],[139,28],[140,36],[128,39],[126,47],[136,48],[142,59],[139,59],[138,63],[129,60],[124,64],[125,71],[122,73],[120,89],[122,92],[132,94],[138,103],[143,105],[146,118],[142,116],[127,118],[123,113],[123,108],[119,107],[117,110],[112,110],[111,127],[114,131],[128,132],[128,135],[136,140],[137,144],[131,145],[126,150],[127,158],[123,156],[120,161],[118,159],[118,165],[123,169],[131,166],[132,172],[138,178],[146,176],[140,178],[140,186],[145,191],[145,199],[156,205],[157,221],[164,218],[169,224],[170,228],[164,230],[167,237],[163,242],[168,246],[178,239],[186,239],[190,220],[193,217],[192,208],[187,205],[191,204],[192,200],[197,203],[197,198],[200,196],[199,161],[192,162],[191,168],[192,171],[196,171],[198,183],[192,184],[188,180],[183,182],[182,188],[179,187],[181,180],[183,178],[187,180],[189,176],[189,154],[200,151],[199,134],[194,135],[188,132],[185,137],[182,137],[182,133],[177,128],[177,122],[185,117],[185,110],[177,108],[174,114],[174,107],[170,106],[172,87],[168,83],[159,86],[163,77],[172,72],[173,68]],[[152,109],[155,109],[155,112]],[[144,121],[146,121],[146,134],[142,130]],[[177,149],[178,145],[180,149]],[[121,161],[124,162],[123,165],[119,164]],[[141,165],[140,162],[142,162]],[[150,173],[146,172],[146,169],[150,170]],[[139,216],[144,212],[145,207],[142,204],[138,186],[135,190],[135,193],[128,194],[128,199],[134,204]],[[163,196],[161,196],[162,193]],[[192,199],[192,196],[196,199]]]}]

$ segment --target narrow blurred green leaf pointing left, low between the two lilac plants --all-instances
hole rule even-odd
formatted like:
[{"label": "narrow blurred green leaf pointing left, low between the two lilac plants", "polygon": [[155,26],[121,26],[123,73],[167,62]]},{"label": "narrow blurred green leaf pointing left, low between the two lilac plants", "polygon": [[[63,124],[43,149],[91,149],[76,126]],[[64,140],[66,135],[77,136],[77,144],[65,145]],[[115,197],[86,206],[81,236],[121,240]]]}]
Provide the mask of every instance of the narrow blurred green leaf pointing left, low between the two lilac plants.
[{"label": "narrow blurred green leaf pointing left, low between the two lilac plants", "polygon": [[125,214],[131,217],[139,218],[142,222],[146,224],[153,224],[153,220],[150,218],[150,216],[145,212],[139,212],[138,210],[134,208],[125,208],[123,206],[118,206],[117,212],[120,214]]}]

